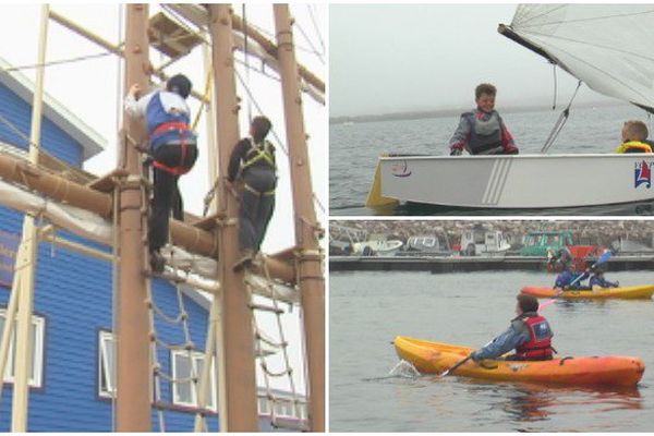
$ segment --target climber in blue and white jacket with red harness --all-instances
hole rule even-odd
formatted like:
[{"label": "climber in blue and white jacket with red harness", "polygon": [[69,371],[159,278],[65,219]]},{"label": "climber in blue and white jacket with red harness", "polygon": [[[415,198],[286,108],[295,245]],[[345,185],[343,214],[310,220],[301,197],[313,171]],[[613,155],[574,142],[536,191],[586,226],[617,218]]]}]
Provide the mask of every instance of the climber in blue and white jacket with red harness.
[{"label": "climber in blue and white jacket with red harness", "polygon": [[168,242],[170,213],[183,220],[182,198],[178,181],[193,168],[197,159],[197,137],[191,130],[191,111],[186,98],[191,81],[183,74],[168,80],[166,89],[141,96],[134,84],[125,96],[125,112],[132,118],[145,118],[149,147],[141,149],[153,159],[154,194],[148,220],[148,242],[153,271],[164,270],[160,249]]}]

